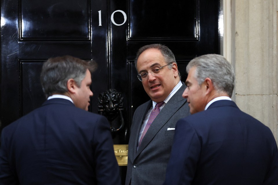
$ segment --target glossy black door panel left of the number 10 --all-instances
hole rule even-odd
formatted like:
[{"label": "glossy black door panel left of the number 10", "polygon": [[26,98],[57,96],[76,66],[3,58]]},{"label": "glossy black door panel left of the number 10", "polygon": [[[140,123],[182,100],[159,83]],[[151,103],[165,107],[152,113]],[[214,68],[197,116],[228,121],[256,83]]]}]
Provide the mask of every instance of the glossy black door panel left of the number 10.
[{"label": "glossy black door panel left of the number 10", "polygon": [[89,1],[19,1],[20,40],[90,40]]}]

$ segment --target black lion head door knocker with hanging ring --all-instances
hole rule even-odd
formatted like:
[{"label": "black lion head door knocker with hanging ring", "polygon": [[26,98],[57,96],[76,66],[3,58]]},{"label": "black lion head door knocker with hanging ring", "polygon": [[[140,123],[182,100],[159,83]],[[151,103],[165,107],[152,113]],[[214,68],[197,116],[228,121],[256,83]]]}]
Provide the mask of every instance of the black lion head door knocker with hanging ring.
[{"label": "black lion head door knocker with hanging ring", "polygon": [[[123,110],[123,97],[120,92],[115,89],[109,89],[104,91],[98,96],[98,113],[105,116],[111,124],[112,137],[121,131],[125,125],[124,118],[122,116]],[[119,124],[112,124],[112,121],[120,116]]]}]

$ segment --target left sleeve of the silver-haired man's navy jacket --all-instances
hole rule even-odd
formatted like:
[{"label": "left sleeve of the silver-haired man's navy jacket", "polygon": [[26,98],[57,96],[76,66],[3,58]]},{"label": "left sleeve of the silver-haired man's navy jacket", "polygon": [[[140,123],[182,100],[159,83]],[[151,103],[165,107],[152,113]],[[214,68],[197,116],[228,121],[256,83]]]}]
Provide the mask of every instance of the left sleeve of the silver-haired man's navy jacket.
[{"label": "left sleeve of the silver-haired man's navy jacket", "polygon": [[191,184],[200,152],[201,142],[195,129],[184,119],[179,120],[164,185]]}]

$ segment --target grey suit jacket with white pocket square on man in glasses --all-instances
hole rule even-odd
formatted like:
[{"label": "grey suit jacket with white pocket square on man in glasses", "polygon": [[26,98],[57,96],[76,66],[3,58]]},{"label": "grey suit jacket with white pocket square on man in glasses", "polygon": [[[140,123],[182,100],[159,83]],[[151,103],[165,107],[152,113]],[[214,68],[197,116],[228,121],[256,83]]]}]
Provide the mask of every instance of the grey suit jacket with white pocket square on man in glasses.
[{"label": "grey suit jacket with white pocket square on man in glasses", "polygon": [[160,111],[145,134],[139,148],[138,138],[146,113],[152,101],[140,105],[133,115],[129,138],[126,185],[159,185],[164,182],[166,166],[170,157],[176,122],[190,114],[182,93],[186,85],[172,96]]}]

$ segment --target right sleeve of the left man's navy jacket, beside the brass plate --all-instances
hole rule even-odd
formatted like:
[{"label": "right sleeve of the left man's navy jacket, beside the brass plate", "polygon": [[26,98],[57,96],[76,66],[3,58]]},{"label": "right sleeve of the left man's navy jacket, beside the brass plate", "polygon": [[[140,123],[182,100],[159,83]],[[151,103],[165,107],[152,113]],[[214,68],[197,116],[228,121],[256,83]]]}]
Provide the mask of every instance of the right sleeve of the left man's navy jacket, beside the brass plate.
[{"label": "right sleeve of the left man's navy jacket, beside the brass plate", "polygon": [[96,121],[93,149],[98,185],[120,185],[119,166],[114,154],[110,126],[103,116]]}]

